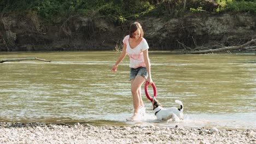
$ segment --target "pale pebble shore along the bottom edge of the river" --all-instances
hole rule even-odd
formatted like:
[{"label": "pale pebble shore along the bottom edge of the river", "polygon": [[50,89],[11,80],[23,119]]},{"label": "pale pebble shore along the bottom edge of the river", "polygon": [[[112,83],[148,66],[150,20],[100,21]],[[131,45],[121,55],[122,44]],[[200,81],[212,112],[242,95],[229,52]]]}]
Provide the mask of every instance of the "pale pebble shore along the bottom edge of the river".
[{"label": "pale pebble shore along the bottom edge of the river", "polygon": [[0,123],[0,143],[253,143],[256,130]]}]

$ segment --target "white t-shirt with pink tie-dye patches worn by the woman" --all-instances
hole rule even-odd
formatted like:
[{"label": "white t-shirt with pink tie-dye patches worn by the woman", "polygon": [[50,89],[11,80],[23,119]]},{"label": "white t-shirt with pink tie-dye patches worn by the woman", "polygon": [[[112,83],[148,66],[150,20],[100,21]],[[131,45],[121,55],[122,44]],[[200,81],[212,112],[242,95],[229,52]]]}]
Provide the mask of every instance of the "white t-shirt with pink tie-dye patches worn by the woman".
[{"label": "white t-shirt with pink tie-dye patches worn by the woman", "polygon": [[142,38],[141,43],[131,49],[131,46],[129,44],[129,38],[130,35],[126,35],[123,43],[126,44],[126,53],[130,57],[130,68],[146,67],[143,57],[143,51],[149,49],[147,40]]}]

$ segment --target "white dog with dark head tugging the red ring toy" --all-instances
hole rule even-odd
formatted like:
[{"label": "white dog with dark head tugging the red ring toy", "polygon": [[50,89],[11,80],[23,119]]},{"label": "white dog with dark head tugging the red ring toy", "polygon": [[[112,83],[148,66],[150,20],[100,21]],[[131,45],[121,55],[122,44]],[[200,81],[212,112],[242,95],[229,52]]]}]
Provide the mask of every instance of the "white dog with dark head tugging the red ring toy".
[{"label": "white dog with dark head tugging the red ring toy", "polygon": [[159,121],[182,121],[183,120],[183,104],[182,101],[175,100],[175,103],[179,104],[181,108],[170,107],[168,109],[162,108],[160,103],[153,97],[152,105],[153,111],[155,112],[155,116]]}]

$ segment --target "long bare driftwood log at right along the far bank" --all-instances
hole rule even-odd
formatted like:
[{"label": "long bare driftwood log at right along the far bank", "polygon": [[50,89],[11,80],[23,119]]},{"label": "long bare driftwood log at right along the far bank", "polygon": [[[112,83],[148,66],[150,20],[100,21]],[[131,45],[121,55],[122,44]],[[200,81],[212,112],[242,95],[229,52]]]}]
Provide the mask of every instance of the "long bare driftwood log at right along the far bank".
[{"label": "long bare driftwood log at right along the far bank", "polygon": [[219,49],[210,49],[210,50],[201,50],[201,51],[189,51],[185,53],[193,53],[193,54],[200,54],[200,53],[213,53],[213,52],[220,52],[220,51],[230,51],[230,50],[239,50],[239,49],[254,49],[256,46],[249,46],[250,44],[255,43],[256,44],[256,39],[252,39],[248,41],[245,44],[242,44],[240,46],[226,46],[226,47],[221,47]]}]

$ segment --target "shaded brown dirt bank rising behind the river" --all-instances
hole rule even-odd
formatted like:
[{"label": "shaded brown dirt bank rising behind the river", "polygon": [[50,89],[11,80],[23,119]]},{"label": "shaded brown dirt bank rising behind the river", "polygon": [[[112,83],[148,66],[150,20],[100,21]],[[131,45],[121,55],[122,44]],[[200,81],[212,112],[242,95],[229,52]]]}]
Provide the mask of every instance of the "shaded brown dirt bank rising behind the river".
[{"label": "shaded brown dirt bank rising behind the river", "polygon": [[[190,14],[169,20],[143,17],[136,21],[142,23],[150,50],[240,45],[256,38],[256,16],[247,13]],[[0,20],[0,51],[120,49],[130,23],[117,25],[104,17],[77,15],[46,25],[36,14],[8,15]]]}]

